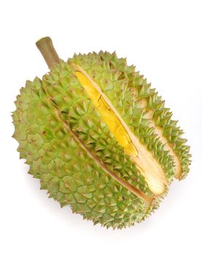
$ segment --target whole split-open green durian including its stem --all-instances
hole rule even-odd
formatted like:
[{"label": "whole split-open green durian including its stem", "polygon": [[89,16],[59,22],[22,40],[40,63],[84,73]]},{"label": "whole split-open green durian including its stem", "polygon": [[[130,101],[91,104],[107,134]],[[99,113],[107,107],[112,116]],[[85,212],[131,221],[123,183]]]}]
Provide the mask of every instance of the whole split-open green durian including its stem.
[{"label": "whole split-open green durian including its stem", "polygon": [[50,37],[36,45],[50,72],[28,80],[15,102],[20,158],[50,197],[84,219],[113,228],[141,222],[189,172],[182,129],[116,53],[62,61]]}]

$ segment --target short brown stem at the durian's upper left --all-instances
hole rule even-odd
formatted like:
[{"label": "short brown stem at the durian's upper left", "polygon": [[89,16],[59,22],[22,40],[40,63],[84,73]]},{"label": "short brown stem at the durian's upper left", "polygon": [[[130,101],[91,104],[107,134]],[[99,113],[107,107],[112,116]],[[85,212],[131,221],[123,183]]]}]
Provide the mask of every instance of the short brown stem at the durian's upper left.
[{"label": "short brown stem at the durian's upper left", "polygon": [[52,39],[50,37],[43,37],[36,42],[37,48],[42,53],[44,60],[49,68],[53,67],[54,64],[60,63],[58,53],[53,46]]}]

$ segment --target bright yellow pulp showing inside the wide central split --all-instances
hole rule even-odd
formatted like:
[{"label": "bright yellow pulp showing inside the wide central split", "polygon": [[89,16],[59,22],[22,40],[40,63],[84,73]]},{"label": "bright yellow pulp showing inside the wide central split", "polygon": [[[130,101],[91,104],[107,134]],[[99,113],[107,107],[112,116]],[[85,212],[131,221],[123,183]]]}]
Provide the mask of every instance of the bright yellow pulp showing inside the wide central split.
[{"label": "bright yellow pulp showing inside the wide central split", "polygon": [[84,74],[82,74],[82,72],[76,71],[75,75],[85,91],[87,91],[88,96],[98,110],[98,113],[101,114],[101,117],[104,119],[107,127],[109,127],[109,130],[116,138],[117,143],[119,143],[120,146],[123,146],[126,154],[130,155],[131,157],[136,157],[138,152],[133,145],[128,132],[123,127],[120,119],[117,118],[115,113],[112,111],[112,108],[109,107],[102,95],[95,89],[90,80]]}]

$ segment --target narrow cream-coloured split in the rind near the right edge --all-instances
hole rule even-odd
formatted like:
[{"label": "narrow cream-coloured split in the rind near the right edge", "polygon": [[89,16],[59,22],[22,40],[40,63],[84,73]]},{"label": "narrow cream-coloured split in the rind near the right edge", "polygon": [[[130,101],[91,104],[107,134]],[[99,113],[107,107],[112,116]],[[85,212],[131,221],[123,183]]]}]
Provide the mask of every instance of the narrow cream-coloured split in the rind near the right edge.
[{"label": "narrow cream-coloured split in the rind near the right edge", "polygon": [[168,143],[168,140],[163,136],[163,130],[160,129],[159,127],[155,126],[154,121],[152,121],[152,116],[153,116],[153,111],[148,111],[147,113],[147,118],[149,119],[149,127],[152,127],[153,129],[155,129],[155,134],[158,135],[158,137],[160,138],[161,142],[163,144],[165,144],[165,149],[167,151],[169,151],[169,153],[171,154],[171,156],[174,159],[174,164],[175,164],[175,178],[179,178],[179,176],[181,175],[182,172],[182,167],[181,167],[181,162],[179,160],[179,157],[177,157],[177,155],[175,154],[173,148],[171,148],[171,146]]}]

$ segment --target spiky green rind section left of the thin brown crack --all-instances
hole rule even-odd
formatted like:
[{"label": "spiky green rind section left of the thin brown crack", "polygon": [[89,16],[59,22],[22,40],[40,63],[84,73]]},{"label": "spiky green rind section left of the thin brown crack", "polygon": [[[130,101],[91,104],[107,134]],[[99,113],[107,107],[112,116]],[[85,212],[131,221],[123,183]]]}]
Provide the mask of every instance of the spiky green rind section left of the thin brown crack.
[{"label": "spiky green rind section left of the thin brown crack", "polygon": [[[69,73],[63,70],[62,75],[58,72],[60,68],[65,69],[64,66],[67,67],[61,64],[53,69],[49,78],[59,79],[63,83],[61,86],[74,87],[75,81]],[[64,80],[68,81],[65,83]],[[42,189],[47,189],[50,197],[61,206],[70,205],[72,211],[95,224],[122,228],[141,222],[147,214],[147,203],[104,173],[79,147],[55,114],[50,95],[44,90],[49,84],[47,76],[44,80],[28,81],[20,90],[15,102],[17,109],[12,115],[13,137],[20,143],[20,158],[25,158],[30,165],[29,173],[40,179]],[[66,88],[55,93],[53,102],[60,95],[74,97],[70,92]],[[157,206],[158,202],[155,203]]]}]

